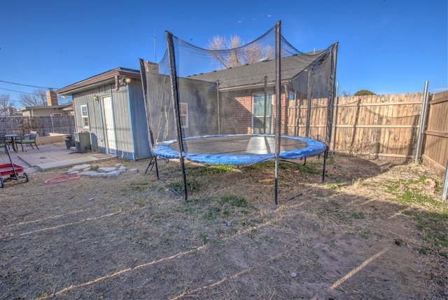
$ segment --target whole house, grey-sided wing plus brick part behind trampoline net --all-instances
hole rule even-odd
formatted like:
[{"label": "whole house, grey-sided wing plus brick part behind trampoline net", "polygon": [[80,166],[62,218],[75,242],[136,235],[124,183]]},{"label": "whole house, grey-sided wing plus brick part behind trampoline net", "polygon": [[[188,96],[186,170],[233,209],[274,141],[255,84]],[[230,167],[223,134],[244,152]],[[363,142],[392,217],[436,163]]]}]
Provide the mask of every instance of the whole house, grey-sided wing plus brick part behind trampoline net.
[{"label": "whole house, grey-sided wing plus brick part behind trampoline net", "polygon": [[[298,79],[303,76],[308,78],[307,67],[315,64],[317,70],[326,61],[327,55],[328,50],[322,50],[281,59],[282,106],[286,107],[286,100],[307,96],[309,86],[301,86],[303,81]],[[92,149],[139,160],[151,157],[150,128],[155,142],[167,137],[176,138],[169,76],[159,74],[158,64],[141,60],[141,65],[144,66],[146,83],[151,83],[147,88],[148,94],[155,99],[151,102],[148,98],[151,102],[148,107],[141,71],[137,69],[118,67],[56,91],[62,96],[72,96],[76,130],[89,132]],[[180,78],[179,85],[186,87],[180,108],[182,122],[186,122],[182,128],[187,134],[183,136],[272,133],[275,117],[274,66],[274,60],[265,60]],[[219,93],[216,93],[217,90]],[[328,86],[322,90],[314,86],[313,90],[315,97],[320,97],[319,94],[328,97]],[[159,105],[161,101],[164,102],[162,106]],[[153,104],[155,107],[151,107]],[[219,116],[216,117],[216,114]],[[219,121],[217,118],[220,118]],[[286,128],[286,111],[282,111],[281,120]],[[192,125],[188,126],[188,122]]]}]

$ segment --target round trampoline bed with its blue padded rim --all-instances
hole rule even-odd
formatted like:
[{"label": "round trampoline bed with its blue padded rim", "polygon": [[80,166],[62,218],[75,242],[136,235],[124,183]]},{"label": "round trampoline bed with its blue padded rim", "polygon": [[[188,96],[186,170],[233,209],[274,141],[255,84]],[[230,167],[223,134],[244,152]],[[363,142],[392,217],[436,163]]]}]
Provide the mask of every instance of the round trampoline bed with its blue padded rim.
[{"label": "round trampoline bed with its blue padded rim", "polygon": [[[251,164],[275,159],[274,135],[204,135],[183,139],[183,158],[196,163]],[[280,158],[297,159],[321,154],[326,144],[309,137],[281,135]],[[180,158],[176,139],[155,144],[155,155]]]}]

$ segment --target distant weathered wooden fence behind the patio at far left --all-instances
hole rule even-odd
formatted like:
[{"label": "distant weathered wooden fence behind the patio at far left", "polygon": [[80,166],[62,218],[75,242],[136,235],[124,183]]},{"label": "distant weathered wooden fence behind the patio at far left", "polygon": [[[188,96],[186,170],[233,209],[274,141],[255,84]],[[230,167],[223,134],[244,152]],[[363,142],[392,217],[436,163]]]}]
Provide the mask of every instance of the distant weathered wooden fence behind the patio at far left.
[{"label": "distant weathered wooden fence behind the patio at far left", "polygon": [[36,130],[39,136],[50,132],[71,134],[75,131],[74,116],[3,116],[0,117],[0,131],[6,133],[28,133]]}]

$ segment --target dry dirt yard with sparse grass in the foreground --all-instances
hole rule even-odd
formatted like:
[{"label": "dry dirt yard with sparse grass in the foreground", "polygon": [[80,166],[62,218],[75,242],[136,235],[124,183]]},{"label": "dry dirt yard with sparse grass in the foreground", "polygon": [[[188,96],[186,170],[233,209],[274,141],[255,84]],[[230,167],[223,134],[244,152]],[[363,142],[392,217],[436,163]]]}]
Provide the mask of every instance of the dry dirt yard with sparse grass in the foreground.
[{"label": "dry dirt yard with sparse grass in the foreground", "polygon": [[282,163],[274,205],[269,163],[186,163],[188,200],[116,163],[139,172],[6,182],[1,299],[448,299],[447,203],[419,165],[330,156],[321,184],[322,158]]}]

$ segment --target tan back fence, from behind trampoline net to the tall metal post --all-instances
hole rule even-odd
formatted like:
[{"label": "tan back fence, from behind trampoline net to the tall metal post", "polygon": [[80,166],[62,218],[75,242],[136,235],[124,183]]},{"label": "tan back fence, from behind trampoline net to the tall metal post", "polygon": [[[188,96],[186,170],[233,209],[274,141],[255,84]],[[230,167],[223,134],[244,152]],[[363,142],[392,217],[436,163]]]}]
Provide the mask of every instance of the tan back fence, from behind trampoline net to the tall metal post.
[{"label": "tan back fence, from behind trampoline net to the tall metal post", "polygon": [[[330,151],[372,158],[412,158],[422,99],[423,93],[337,98]],[[309,132],[309,137],[324,141],[327,101],[312,100],[310,109],[306,100],[298,101],[297,107],[290,105],[288,135],[307,136]],[[296,116],[295,121],[292,116]]]}]

